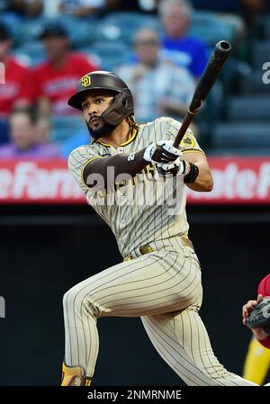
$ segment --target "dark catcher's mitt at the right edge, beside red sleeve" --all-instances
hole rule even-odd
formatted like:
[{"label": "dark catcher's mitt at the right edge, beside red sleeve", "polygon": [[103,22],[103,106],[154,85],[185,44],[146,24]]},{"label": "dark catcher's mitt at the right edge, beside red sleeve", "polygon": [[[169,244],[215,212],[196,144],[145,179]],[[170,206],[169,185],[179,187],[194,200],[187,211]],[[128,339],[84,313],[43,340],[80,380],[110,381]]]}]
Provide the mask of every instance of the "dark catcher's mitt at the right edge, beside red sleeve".
[{"label": "dark catcher's mitt at the right edge, beside red sleeve", "polygon": [[270,297],[265,297],[257,303],[257,306],[247,317],[247,327],[263,328],[266,334],[270,336]]}]

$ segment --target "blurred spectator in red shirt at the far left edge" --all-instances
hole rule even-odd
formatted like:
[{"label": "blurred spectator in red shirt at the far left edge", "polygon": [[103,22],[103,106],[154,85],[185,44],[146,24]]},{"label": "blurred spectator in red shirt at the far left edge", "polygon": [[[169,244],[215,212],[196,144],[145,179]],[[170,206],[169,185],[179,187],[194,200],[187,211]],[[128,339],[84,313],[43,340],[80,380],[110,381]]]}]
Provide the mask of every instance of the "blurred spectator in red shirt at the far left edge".
[{"label": "blurred spectator in red shirt at the far left edge", "polygon": [[[6,130],[9,112],[14,106],[31,104],[33,98],[30,69],[10,55],[11,46],[11,34],[7,26],[0,22],[0,63],[4,67],[4,74],[1,74],[4,76],[4,84],[0,85],[0,143],[7,140]],[[3,72],[1,71],[1,73]]]}]

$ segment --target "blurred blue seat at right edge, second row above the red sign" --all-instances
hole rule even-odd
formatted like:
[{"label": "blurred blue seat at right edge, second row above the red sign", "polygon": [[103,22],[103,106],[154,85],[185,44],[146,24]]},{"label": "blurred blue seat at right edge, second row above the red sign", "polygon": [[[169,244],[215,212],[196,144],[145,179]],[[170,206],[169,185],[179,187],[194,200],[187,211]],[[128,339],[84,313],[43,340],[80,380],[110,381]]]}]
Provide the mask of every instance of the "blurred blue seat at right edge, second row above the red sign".
[{"label": "blurred blue seat at right edge, second row above the red sign", "polygon": [[268,121],[270,98],[267,95],[231,97],[228,105],[229,121]]}]

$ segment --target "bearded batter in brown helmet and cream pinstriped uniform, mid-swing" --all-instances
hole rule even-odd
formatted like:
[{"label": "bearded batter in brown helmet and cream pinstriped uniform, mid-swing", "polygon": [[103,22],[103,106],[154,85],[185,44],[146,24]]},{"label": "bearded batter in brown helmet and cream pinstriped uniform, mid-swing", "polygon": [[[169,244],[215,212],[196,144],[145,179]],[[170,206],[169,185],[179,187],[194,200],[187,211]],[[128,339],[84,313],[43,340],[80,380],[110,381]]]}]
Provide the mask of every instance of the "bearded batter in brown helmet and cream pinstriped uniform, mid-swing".
[{"label": "bearded batter in brown helmet and cream pinstriped uniform, mid-swing", "polygon": [[188,238],[184,185],[209,192],[212,178],[193,132],[175,148],[180,122],[138,124],[130,89],[111,72],[83,76],[68,104],[83,112],[94,139],[72,151],[68,168],[112,229],[123,261],[64,296],[62,385],[91,384],[96,321],[106,316],[140,317],[158,354],[187,385],[254,385],[219,363],[199,315],[201,265]]}]

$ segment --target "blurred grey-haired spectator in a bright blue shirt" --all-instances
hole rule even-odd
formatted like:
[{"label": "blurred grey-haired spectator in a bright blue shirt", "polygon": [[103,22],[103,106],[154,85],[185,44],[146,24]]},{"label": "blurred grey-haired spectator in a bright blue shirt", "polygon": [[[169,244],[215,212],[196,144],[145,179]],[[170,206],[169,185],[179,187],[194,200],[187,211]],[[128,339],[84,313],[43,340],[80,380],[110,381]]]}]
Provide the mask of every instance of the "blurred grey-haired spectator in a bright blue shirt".
[{"label": "blurred grey-haired spectator in a bright blue shirt", "polygon": [[185,0],[163,0],[159,4],[159,14],[165,30],[162,57],[173,60],[199,78],[208,61],[208,49],[202,40],[187,33],[192,21],[192,6]]}]

